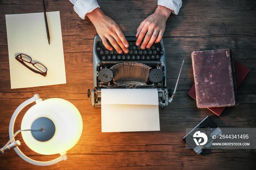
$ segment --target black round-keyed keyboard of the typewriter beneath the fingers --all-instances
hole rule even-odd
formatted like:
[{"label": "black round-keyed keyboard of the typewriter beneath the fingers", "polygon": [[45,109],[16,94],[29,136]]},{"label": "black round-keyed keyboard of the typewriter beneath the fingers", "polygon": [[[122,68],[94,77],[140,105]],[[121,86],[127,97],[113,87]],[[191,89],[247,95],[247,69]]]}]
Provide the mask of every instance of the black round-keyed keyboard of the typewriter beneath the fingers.
[{"label": "black round-keyed keyboard of the typewriter beneath the fingers", "polygon": [[[153,43],[149,49],[142,50],[140,46],[136,46],[137,38],[135,36],[125,37],[129,43],[129,52],[118,54],[117,51],[108,50],[103,45],[102,41],[96,43],[96,51],[99,60],[101,61],[159,61],[161,56],[164,54],[161,42]],[[111,45],[110,45],[111,46]],[[112,46],[113,47],[113,46]]]}]

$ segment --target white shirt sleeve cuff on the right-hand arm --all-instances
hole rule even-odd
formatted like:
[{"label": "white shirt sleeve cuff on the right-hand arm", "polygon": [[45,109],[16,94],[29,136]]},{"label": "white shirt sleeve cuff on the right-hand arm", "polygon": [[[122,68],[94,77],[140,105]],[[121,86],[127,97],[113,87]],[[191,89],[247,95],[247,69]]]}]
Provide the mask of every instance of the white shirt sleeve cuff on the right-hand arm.
[{"label": "white shirt sleeve cuff on the right-hand arm", "polygon": [[157,4],[171,9],[177,15],[180,11],[182,0],[158,0]]}]

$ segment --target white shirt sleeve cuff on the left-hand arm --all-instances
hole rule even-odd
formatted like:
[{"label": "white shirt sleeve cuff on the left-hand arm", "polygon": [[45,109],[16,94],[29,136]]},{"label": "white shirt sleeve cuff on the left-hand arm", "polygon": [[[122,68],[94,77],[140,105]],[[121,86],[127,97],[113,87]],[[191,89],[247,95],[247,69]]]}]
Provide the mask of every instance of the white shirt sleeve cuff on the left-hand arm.
[{"label": "white shirt sleeve cuff on the left-hand arm", "polygon": [[74,5],[74,11],[80,16],[80,18],[85,19],[86,13],[99,8],[97,0],[69,0]]}]

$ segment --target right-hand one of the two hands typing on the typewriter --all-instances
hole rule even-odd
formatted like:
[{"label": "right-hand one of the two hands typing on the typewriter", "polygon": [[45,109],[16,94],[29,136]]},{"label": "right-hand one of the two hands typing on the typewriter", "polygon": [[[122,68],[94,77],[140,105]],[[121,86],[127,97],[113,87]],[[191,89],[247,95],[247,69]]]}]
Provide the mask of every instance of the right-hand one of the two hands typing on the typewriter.
[{"label": "right-hand one of the two hands typing on the typewriter", "polygon": [[145,36],[141,49],[150,48],[153,43],[158,43],[165,32],[166,20],[169,18],[172,10],[158,5],[153,14],[148,16],[137,28],[136,45],[139,46]]}]

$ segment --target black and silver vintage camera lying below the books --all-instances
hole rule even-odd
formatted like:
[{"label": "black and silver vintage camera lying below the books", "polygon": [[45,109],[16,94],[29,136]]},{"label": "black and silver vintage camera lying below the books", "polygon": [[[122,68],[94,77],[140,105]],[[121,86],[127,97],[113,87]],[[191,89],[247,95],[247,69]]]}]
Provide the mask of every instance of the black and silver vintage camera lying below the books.
[{"label": "black and silver vintage camera lying below the books", "polygon": [[198,155],[203,151],[203,148],[211,146],[213,142],[212,135],[219,136],[221,134],[221,129],[207,116],[184,136],[183,141]]}]

